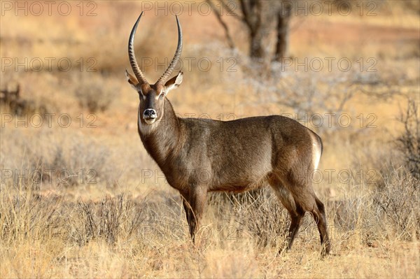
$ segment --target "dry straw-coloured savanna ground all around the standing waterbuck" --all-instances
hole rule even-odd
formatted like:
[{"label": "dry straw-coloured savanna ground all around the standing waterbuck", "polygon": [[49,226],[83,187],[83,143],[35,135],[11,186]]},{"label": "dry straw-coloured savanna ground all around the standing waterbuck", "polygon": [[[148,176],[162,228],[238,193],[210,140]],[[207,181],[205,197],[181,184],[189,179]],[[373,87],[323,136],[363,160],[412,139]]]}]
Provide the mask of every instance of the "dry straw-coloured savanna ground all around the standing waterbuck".
[{"label": "dry straw-coloured savanna ground all around the standing waterbuck", "polygon": [[[293,250],[278,253],[289,219],[268,188],[211,195],[191,243],[181,198],[137,135],[139,98],[124,75],[144,3],[68,2],[64,16],[60,2],[52,15],[46,4],[15,15],[1,1],[1,90],[19,85],[20,99],[1,106],[0,278],[419,278],[419,5],[370,2],[370,15],[359,1],[346,16],[293,17],[289,55],[308,69],[250,62],[232,19],[239,50],[229,50],[201,2],[180,16],[176,113],[288,114],[323,138],[313,180],[332,255],[321,259],[310,215]],[[139,62],[153,61],[149,81],[176,48],[173,15],[154,9],[136,40]]]}]

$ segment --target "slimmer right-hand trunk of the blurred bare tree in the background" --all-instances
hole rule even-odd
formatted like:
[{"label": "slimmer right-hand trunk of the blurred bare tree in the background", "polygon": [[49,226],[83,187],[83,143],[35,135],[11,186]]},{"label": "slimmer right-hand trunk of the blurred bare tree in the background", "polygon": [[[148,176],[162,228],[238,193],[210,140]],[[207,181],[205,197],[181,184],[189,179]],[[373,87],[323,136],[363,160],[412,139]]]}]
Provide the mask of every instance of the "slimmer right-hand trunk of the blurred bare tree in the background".
[{"label": "slimmer right-hand trunk of the blurred bare tree in the background", "polygon": [[286,57],[288,52],[289,40],[289,22],[290,22],[290,6],[285,6],[279,10],[277,15],[277,42],[274,52],[274,61],[280,62]]}]

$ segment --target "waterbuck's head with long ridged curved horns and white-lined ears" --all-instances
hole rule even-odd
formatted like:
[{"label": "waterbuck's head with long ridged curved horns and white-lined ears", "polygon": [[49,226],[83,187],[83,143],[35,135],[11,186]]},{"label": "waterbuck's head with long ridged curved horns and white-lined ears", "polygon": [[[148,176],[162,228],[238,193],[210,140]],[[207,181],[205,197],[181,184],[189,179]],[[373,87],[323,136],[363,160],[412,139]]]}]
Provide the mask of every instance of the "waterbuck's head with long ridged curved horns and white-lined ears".
[{"label": "waterbuck's head with long ridged curved horns and white-lined ears", "polygon": [[[143,12],[141,12],[143,15]],[[179,72],[178,75],[174,76],[167,81],[172,71],[174,71],[175,65],[179,60],[182,52],[182,30],[181,25],[179,24],[178,17],[176,17],[176,24],[178,25],[178,46],[176,47],[174,58],[172,58],[171,63],[169,64],[167,70],[163,75],[158,79],[158,81],[151,85],[148,83],[144,74],[141,72],[139,64],[137,64],[136,56],[134,55],[134,36],[136,34],[137,25],[141,19],[141,15],[137,19],[137,22],[134,24],[134,27],[130,34],[130,39],[128,41],[128,57],[130,59],[130,64],[135,76],[128,73],[126,70],[127,80],[130,85],[139,93],[139,121],[141,124],[153,124],[157,120],[161,120],[164,113],[165,98],[169,91],[173,90],[176,87],[179,87],[182,82],[182,72]]]}]

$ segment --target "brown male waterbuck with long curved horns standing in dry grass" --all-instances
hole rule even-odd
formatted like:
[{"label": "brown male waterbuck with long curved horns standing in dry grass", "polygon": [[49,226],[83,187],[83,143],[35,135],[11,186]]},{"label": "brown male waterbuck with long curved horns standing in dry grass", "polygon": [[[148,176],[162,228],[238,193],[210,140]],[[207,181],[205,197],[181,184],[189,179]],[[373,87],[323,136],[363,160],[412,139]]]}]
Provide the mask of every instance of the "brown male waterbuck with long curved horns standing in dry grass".
[{"label": "brown male waterbuck with long curved horns standing in dry grass", "polygon": [[311,186],[312,173],[321,158],[321,138],[299,122],[279,115],[226,122],[177,117],[167,94],[181,85],[183,73],[167,79],[182,50],[178,17],[179,38],[174,58],[151,85],[134,55],[134,35],[141,15],[128,43],[135,77],[126,71],[128,82],[139,93],[139,135],[169,185],[183,196],[193,240],[208,192],[244,192],[269,184],[290,213],[288,249],[304,213],[310,212],[318,224],[322,254],[328,254],[325,209]]}]

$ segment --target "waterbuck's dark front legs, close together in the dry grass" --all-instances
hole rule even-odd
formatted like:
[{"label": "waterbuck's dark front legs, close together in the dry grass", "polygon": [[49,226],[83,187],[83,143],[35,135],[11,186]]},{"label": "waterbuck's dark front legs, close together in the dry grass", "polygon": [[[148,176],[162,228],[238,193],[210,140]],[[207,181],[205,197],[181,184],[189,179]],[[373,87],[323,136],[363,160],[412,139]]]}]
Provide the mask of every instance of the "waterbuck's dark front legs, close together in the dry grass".
[{"label": "waterbuck's dark front legs, close together in the dry grass", "polygon": [[200,188],[193,188],[189,193],[181,193],[183,196],[183,206],[186,210],[188,226],[190,227],[190,235],[195,242],[195,234],[200,224],[200,218],[206,204],[207,191]]}]

